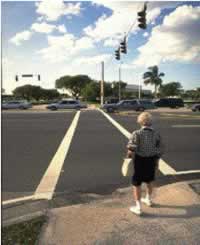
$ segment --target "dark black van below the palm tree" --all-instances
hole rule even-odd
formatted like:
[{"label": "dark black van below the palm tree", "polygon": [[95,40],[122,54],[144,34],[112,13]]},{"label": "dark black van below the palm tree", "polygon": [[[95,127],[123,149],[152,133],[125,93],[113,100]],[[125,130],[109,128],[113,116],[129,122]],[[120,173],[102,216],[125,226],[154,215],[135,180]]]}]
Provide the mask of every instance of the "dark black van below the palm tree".
[{"label": "dark black van below the palm tree", "polygon": [[157,107],[179,108],[184,107],[184,102],[178,98],[161,98],[155,100],[154,105]]}]

